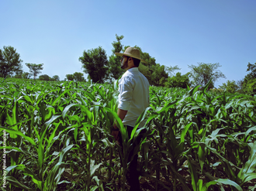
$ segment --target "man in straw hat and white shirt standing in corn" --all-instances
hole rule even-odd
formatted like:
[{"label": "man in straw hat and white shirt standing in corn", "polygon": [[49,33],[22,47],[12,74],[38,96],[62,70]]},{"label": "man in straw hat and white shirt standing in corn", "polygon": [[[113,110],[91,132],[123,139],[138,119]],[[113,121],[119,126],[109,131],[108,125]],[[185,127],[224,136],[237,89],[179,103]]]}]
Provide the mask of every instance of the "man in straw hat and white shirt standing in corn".
[{"label": "man in straw hat and white shirt standing in corn", "polygon": [[[149,82],[146,77],[138,70],[140,61],[146,63],[144,60],[140,59],[140,50],[129,47],[124,53],[115,53],[117,56],[122,56],[121,58],[121,68],[126,70],[123,77],[119,80],[119,106],[117,114],[119,118],[123,121],[123,125],[126,126],[128,135],[130,138],[133,127],[139,118],[140,114],[149,106]],[[143,127],[145,121],[141,122],[139,128]],[[141,131],[140,134],[144,133]],[[112,134],[119,145],[123,146],[122,136],[117,128],[116,124],[113,125]],[[140,142],[142,135],[139,135]],[[128,157],[128,162],[130,162],[131,156],[133,154],[130,152]],[[140,190],[139,175],[137,172],[137,158],[138,155],[133,157],[133,161],[130,162],[130,168],[127,173],[127,180],[130,184],[130,190],[136,191]]]}]

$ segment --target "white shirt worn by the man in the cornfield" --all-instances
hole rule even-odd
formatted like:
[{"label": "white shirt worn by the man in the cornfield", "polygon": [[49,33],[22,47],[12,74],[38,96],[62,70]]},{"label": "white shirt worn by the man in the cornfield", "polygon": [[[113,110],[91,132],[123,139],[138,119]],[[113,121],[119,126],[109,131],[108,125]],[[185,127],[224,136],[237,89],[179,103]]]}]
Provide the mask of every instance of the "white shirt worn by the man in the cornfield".
[{"label": "white shirt worn by the man in the cornfield", "polygon": [[[127,111],[123,119],[123,125],[134,127],[137,118],[149,106],[149,82],[137,67],[130,68],[123,74],[119,80],[118,107]],[[142,121],[139,127],[143,127],[145,121]]]}]

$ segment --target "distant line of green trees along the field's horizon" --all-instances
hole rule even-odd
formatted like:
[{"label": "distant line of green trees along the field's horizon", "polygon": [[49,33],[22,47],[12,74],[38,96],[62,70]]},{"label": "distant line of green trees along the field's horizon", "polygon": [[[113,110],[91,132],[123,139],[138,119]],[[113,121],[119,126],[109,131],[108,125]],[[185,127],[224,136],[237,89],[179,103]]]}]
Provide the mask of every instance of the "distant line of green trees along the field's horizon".
[{"label": "distant line of green trees along the field's horizon", "polygon": [[[101,46],[95,49],[84,50],[81,57],[78,60],[81,62],[81,67],[84,73],[88,74],[88,80],[92,80],[94,83],[104,83],[106,81],[117,80],[124,73],[121,69],[120,57],[115,53],[124,52],[129,46],[123,46],[121,40],[124,36],[117,36],[116,41],[113,41],[112,54],[106,55],[106,50]],[[147,77],[147,80],[151,85],[161,87],[182,87],[187,86],[194,87],[197,85],[205,86],[209,80],[211,84],[210,88],[214,88],[216,80],[220,78],[226,78],[225,75],[218,70],[220,63],[198,63],[195,65],[188,65],[191,69],[189,73],[177,72],[180,70],[177,65],[173,67],[166,67],[156,62],[156,59],[150,56],[149,53],[144,53],[139,46],[134,46],[140,50],[141,59],[147,63],[140,63],[139,70]],[[40,70],[43,70],[43,63],[26,63],[29,67],[29,73],[22,70],[22,60],[19,53],[16,53],[16,49],[12,46],[4,46],[0,49],[0,77],[15,77],[29,79],[33,77],[34,80],[60,80],[60,77],[54,75],[49,77],[47,74],[40,75]],[[171,65],[171,64],[170,64]],[[177,72],[177,73],[176,73]],[[239,92],[243,94],[255,94],[256,92],[256,63],[247,65],[247,75],[244,79],[235,82],[234,80],[227,80],[227,83],[223,83],[220,86],[221,89],[227,92],[234,93]],[[73,74],[66,74],[64,80],[76,80],[86,81],[83,77],[83,73],[75,72]]]}]

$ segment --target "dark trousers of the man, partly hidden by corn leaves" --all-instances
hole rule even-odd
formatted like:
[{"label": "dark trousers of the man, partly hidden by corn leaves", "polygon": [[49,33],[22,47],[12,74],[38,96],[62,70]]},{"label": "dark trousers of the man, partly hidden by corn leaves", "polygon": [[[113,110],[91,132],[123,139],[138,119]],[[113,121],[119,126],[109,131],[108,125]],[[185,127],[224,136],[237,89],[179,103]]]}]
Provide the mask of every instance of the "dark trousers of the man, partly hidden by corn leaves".
[{"label": "dark trousers of the man, partly hidden by corn leaves", "polygon": [[[128,131],[128,136],[130,138],[130,135],[133,131],[133,127],[126,125],[126,128]],[[133,155],[134,147],[140,143],[141,138],[143,138],[143,134],[145,132],[146,132],[145,129],[140,131],[140,135],[138,135],[138,137],[137,137],[137,142],[134,143],[133,149],[128,156],[128,162],[130,162],[130,159]],[[121,148],[123,148],[123,140],[122,140],[122,135],[121,135],[120,131],[119,131],[119,138],[120,138],[119,144],[120,144]],[[126,174],[126,179],[130,185],[131,191],[140,190],[139,172],[137,172],[137,160],[138,160],[138,154],[134,155],[133,160],[130,162],[130,165],[129,165],[129,168],[128,168],[127,174]],[[122,161],[121,161],[121,165],[123,166]]]}]

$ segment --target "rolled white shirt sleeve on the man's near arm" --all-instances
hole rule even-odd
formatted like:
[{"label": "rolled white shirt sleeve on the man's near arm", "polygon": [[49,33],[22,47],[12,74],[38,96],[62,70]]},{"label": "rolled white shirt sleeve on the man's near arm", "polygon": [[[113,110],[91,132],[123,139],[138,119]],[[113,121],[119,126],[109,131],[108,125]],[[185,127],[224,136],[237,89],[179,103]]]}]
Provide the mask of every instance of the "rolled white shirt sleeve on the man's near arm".
[{"label": "rolled white shirt sleeve on the man's near arm", "polygon": [[119,109],[128,111],[133,98],[133,84],[128,77],[124,77],[119,83]]}]

